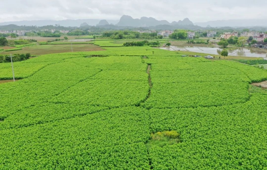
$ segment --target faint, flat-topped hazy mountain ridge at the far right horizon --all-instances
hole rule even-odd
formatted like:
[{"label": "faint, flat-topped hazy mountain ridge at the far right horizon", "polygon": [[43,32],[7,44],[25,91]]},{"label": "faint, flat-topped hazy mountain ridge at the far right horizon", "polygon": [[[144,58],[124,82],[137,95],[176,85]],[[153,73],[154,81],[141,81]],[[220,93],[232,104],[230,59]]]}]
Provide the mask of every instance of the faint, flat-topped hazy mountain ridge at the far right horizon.
[{"label": "faint, flat-topped hazy mountain ridge at the far right horizon", "polygon": [[206,27],[248,27],[248,26],[267,26],[267,19],[260,20],[217,20],[208,22],[196,22],[194,25]]}]

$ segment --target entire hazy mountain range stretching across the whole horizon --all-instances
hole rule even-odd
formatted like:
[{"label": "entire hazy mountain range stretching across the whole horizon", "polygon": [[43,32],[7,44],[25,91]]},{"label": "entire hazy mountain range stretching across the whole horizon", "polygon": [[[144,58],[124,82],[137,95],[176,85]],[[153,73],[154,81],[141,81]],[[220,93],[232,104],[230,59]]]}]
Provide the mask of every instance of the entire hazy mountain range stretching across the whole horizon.
[{"label": "entire hazy mountain range stretching across the whole horizon", "polygon": [[[2,22],[0,25],[26,25],[26,26],[46,26],[60,25],[65,27],[90,27],[105,26],[105,28],[119,27],[145,27],[145,28],[170,28],[170,29],[204,29],[210,27],[248,27],[248,26],[267,26],[267,19],[258,20],[216,20],[208,22],[191,22],[188,18],[179,21],[168,22],[167,20],[156,20],[152,17],[141,17],[140,19],[123,15],[120,20],[97,20],[97,19],[80,19],[80,20],[34,20],[34,21],[13,21]],[[107,26],[106,26],[107,25]]]}]

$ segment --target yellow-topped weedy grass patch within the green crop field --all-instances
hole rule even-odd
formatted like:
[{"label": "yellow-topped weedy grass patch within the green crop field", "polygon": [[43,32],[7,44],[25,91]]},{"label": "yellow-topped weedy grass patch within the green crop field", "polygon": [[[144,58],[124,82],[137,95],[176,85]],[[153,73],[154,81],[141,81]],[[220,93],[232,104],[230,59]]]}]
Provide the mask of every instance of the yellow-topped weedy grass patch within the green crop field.
[{"label": "yellow-topped weedy grass patch within the green crop field", "polygon": [[153,149],[156,147],[174,145],[180,142],[180,134],[175,130],[157,132],[151,134],[150,139],[147,142],[147,147],[148,149]]}]

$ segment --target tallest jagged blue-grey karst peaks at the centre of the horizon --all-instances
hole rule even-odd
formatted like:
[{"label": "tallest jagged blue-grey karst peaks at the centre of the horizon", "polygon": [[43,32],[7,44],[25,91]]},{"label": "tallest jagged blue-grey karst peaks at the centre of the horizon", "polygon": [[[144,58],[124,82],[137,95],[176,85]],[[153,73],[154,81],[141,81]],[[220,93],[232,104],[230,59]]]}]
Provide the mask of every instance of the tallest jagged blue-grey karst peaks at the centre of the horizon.
[{"label": "tallest jagged blue-grey karst peaks at the centre of the horizon", "polygon": [[157,25],[194,25],[188,18],[178,22],[168,22],[166,20],[156,20],[152,17],[141,17],[140,19],[133,19],[131,16],[123,15],[117,26],[132,26],[132,27],[150,27]]}]

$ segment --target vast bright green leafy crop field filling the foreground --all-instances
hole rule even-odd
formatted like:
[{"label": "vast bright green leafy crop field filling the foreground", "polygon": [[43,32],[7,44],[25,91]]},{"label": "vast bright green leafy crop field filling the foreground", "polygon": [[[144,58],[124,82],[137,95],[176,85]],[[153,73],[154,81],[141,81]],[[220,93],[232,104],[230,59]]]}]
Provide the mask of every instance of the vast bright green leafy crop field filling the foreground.
[{"label": "vast bright green leafy crop field filling the foreground", "polygon": [[[95,44],[121,45],[112,41]],[[55,46],[69,50],[27,48]],[[267,169],[267,92],[250,85],[267,70],[103,49],[14,63],[20,80],[0,83],[0,169]]]}]

